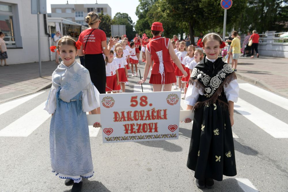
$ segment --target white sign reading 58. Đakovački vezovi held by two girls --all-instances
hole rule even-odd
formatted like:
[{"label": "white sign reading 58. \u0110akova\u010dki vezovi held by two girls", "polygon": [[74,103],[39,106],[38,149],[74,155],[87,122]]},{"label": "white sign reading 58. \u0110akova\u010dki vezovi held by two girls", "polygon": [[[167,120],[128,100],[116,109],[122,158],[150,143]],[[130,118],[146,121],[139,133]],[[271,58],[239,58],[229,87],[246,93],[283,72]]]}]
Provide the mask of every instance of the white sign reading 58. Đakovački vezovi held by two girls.
[{"label": "white sign reading 58. \u0110akova\u010dki vezovi held by two girls", "polygon": [[103,143],[178,139],[180,92],[100,94]]}]

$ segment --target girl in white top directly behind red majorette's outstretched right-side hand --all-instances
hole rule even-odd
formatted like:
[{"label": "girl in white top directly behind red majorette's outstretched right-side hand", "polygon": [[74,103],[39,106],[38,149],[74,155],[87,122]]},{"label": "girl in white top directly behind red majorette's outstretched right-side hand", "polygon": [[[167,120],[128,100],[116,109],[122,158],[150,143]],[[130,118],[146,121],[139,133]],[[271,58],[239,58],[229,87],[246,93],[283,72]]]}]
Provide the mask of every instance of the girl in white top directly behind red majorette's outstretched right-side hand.
[{"label": "girl in white top directly behind red majorette's outstretched right-side hand", "polygon": [[[185,65],[183,65],[183,59],[186,57],[187,51],[186,51],[186,43],[184,41],[181,41],[179,43],[179,49],[180,51],[177,52],[176,55],[180,60],[183,69],[185,69]],[[181,82],[183,73],[179,70],[178,67],[175,69],[175,75],[176,77],[178,77],[179,91],[181,91],[181,93],[184,93],[184,83]]]}]

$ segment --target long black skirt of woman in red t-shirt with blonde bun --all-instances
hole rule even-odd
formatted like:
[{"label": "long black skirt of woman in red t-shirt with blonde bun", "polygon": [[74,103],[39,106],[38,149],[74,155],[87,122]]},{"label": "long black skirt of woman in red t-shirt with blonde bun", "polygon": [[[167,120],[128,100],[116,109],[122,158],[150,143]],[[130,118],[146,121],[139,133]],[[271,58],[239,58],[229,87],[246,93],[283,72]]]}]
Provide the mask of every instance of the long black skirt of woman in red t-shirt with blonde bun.
[{"label": "long black skirt of woman in red t-shirt with blonde bun", "polygon": [[99,93],[106,93],[106,66],[103,54],[86,54],[84,67],[88,69],[91,81]]}]

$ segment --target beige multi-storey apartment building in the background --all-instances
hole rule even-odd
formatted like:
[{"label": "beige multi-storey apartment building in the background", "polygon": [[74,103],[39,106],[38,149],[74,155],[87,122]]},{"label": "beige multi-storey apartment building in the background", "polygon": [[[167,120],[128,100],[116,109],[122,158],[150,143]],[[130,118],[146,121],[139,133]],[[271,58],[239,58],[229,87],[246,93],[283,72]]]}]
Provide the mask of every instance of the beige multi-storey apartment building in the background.
[{"label": "beige multi-storey apartment building in the background", "polygon": [[51,17],[64,18],[78,24],[86,25],[84,18],[89,12],[111,15],[111,7],[108,4],[51,4]]}]

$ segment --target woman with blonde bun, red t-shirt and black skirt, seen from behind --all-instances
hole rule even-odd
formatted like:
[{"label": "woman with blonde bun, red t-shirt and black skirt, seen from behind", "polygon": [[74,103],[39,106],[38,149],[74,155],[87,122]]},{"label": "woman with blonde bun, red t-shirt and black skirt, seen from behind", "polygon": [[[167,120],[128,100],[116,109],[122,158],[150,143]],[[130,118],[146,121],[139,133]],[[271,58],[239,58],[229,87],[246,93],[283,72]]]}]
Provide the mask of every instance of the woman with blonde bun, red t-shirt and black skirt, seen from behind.
[{"label": "woman with blonde bun, red t-shirt and black skirt, seen from behind", "polygon": [[85,21],[88,23],[89,28],[82,31],[79,35],[78,40],[82,42],[82,46],[78,51],[78,55],[84,55],[84,66],[88,69],[91,81],[99,93],[106,93],[106,67],[103,53],[108,56],[116,40],[110,38],[107,47],[106,34],[98,29],[101,20],[96,13],[88,13]]}]

